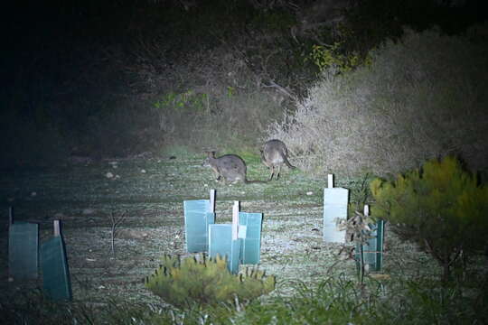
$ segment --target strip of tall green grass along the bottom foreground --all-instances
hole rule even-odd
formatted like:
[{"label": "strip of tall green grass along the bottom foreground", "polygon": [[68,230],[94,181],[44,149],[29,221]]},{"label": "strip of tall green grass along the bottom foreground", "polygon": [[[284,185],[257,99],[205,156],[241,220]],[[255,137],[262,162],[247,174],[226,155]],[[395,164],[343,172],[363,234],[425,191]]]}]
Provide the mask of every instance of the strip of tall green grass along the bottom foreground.
[{"label": "strip of tall green grass along the bottom foreground", "polygon": [[248,306],[239,302],[179,310],[169,305],[108,300],[98,305],[53,303],[40,295],[2,302],[3,324],[476,324],[488,320],[486,279],[477,288],[454,284],[366,281],[343,276],[315,287],[296,284],[291,297],[269,297]]}]

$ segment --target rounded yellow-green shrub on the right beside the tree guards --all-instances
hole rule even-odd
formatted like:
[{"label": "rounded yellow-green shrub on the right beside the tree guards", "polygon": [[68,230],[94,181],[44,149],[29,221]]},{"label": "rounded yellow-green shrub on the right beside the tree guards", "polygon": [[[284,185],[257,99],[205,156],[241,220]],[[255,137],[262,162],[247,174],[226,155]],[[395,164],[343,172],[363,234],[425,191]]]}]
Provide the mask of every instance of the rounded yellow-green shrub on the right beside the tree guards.
[{"label": "rounded yellow-green shrub on the right beside the tree guards", "polygon": [[433,255],[445,282],[460,257],[486,245],[488,186],[478,185],[454,157],[427,162],[395,181],[371,181],[371,193],[374,216]]}]

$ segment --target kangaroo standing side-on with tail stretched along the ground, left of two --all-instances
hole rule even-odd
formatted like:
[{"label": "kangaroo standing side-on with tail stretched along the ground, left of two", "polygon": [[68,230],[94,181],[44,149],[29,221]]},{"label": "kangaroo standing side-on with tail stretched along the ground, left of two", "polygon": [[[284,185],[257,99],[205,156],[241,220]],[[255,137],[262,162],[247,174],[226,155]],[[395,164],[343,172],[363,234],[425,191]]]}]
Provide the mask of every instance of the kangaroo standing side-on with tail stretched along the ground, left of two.
[{"label": "kangaroo standing side-on with tail stretched along the ground, left of two", "polygon": [[202,164],[206,167],[211,167],[217,181],[224,178],[224,181],[237,182],[243,181],[244,183],[258,183],[266,181],[248,181],[246,178],[246,163],[236,154],[225,154],[219,158],[215,158],[215,152],[207,153],[207,158]]}]

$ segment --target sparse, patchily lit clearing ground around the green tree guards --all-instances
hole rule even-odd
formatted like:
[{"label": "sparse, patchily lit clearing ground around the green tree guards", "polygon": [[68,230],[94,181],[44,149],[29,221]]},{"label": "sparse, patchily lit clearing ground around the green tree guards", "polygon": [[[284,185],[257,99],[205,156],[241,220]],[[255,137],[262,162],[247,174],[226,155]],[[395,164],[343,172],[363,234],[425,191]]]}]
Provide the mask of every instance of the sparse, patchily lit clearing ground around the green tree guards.
[{"label": "sparse, patchily lit clearing ground around the green tree guards", "polygon": [[[3,173],[2,301],[42,287],[40,281],[8,281],[8,206],[14,206],[16,219],[40,224],[41,242],[52,236],[52,220],[61,219],[74,302],[157,304],[161,301],[145,289],[143,279],[162,255],[188,255],[183,200],[207,199],[210,189],[217,190],[217,223],[230,223],[233,200],[241,202],[242,211],[263,213],[259,268],[277,276],[277,291],[266,299],[296,294],[296,283],[314,288],[324,279],[355,279],[354,262],[339,254],[342,246],[322,240],[325,179],[284,168],[279,181],[226,185],[213,180],[211,170],[202,167],[203,158],[134,158]],[[246,160],[249,180],[267,179],[267,169],[256,157]],[[358,200],[360,183],[339,179],[335,185],[350,189],[351,200]],[[115,255],[112,217],[124,217],[117,227]],[[439,272],[431,258],[387,231],[383,273],[390,279],[436,282]]]}]

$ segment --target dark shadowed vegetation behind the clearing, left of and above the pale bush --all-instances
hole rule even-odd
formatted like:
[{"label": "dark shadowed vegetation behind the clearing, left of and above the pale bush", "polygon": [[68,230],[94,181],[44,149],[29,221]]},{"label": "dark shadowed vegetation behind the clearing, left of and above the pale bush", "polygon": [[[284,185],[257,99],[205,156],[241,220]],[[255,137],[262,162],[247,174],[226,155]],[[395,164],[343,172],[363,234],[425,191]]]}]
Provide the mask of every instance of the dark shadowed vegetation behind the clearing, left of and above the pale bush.
[{"label": "dark shadowed vegetation behind the clearing, left of and above the pale bush", "polygon": [[340,44],[324,56],[361,58],[404,25],[459,33],[483,19],[474,1],[436,3],[11,5],[0,63],[2,165],[256,146],[316,79],[307,60],[314,44]]}]

